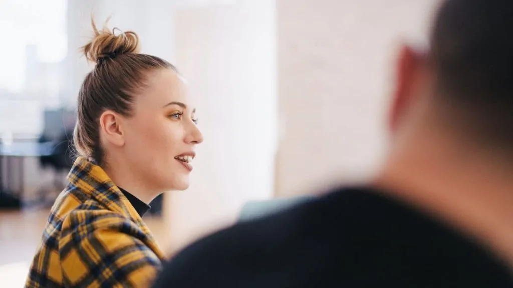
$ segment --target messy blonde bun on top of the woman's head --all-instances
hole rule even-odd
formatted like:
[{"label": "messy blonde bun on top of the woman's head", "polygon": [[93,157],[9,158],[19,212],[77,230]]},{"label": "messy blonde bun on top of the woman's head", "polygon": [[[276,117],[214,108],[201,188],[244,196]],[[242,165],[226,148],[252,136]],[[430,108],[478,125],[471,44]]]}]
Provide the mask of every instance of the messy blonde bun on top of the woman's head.
[{"label": "messy blonde bun on top of the woman's head", "polygon": [[[105,59],[113,59],[123,54],[139,53],[139,37],[134,32],[121,32],[117,28],[110,31],[106,27],[98,30],[92,18],[91,25],[94,38],[82,47],[82,51],[86,59],[92,63],[98,64]],[[115,35],[116,30],[120,31],[121,34]]]}]

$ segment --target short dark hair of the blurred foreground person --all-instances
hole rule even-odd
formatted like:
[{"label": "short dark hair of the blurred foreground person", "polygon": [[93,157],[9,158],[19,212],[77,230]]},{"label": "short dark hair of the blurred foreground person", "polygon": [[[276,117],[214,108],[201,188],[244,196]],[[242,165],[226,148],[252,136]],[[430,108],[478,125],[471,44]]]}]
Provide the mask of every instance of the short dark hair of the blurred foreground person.
[{"label": "short dark hair of the blurred foreground person", "polygon": [[513,155],[513,1],[445,1],[430,45],[441,107]]}]

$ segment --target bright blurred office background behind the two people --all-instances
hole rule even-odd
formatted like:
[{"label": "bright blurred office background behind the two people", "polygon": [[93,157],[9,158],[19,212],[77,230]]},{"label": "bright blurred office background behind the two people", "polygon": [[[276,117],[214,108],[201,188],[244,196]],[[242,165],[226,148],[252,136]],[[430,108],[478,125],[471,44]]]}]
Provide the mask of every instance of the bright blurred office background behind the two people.
[{"label": "bright blurred office background behind the two people", "polygon": [[92,68],[77,49],[91,13],[175,64],[198,106],[205,142],[191,187],[146,217],[172,254],[236,221],[248,202],[371,176],[385,149],[395,52],[426,44],[438,3],[0,1],[0,278],[23,282],[69,169],[65,140]]}]

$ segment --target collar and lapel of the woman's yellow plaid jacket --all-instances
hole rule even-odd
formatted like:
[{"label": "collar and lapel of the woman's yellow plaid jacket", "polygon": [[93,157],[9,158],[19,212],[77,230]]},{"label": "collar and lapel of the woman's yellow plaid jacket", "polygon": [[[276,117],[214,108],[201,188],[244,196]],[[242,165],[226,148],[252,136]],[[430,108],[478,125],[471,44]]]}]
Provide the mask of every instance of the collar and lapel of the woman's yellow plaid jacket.
[{"label": "collar and lapel of the woman's yellow plaid jacket", "polygon": [[152,250],[164,259],[159,246],[153,239],[149,228],[128,199],[115,186],[105,171],[94,161],[78,157],[67,177],[71,188],[75,188],[99,202],[105,209],[121,214],[134,222],[150,239]]}]

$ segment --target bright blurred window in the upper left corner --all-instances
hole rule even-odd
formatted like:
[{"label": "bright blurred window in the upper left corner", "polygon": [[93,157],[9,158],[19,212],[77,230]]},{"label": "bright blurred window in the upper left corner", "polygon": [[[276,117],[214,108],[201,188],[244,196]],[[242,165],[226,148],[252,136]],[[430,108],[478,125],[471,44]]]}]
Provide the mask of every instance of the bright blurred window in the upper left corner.
[{"label": "bright blurred window in the upper left corner", "polygon": [[0,138],[37,135],[66,83],[67,0],[0,0]]}]

